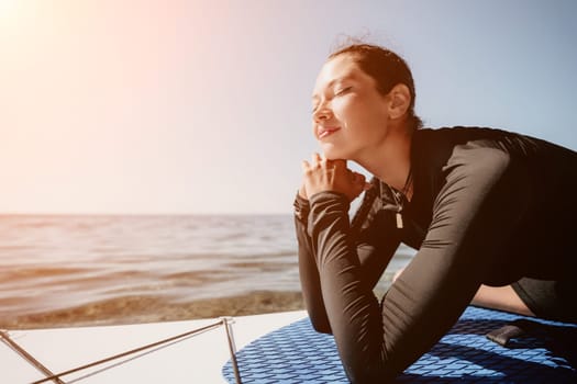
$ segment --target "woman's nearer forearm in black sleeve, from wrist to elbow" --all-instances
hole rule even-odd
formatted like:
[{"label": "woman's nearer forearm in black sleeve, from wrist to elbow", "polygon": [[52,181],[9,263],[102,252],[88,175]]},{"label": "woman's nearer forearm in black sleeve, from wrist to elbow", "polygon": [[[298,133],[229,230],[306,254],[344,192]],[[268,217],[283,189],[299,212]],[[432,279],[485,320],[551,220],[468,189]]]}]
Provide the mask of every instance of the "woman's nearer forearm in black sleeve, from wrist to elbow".
[{"label": "woman's nearer forearm in black sleeve, from wrist to elbow", "polygon": [[[335,193],[311,197],[309,235],[315,248],[320,285],[345,371],[357,374],[384,358],[378,300],[364,278],[348,223],[348,202]],[[373,370],[371,370],[373,371]],[[384,373],[380,370],[380,373]]]}]

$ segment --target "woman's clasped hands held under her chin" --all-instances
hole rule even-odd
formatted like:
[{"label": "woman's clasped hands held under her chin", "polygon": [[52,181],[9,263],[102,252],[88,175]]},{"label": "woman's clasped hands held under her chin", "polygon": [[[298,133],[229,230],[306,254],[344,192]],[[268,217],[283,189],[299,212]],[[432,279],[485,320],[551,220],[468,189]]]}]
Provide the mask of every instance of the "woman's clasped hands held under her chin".
[{"label": "woman's clasped hands held under her chin", "polygon": [[310,163],[302,161],[301,197],[309,199],[315,193],[332,191],[344,194],[351,202],[369,187],[365,176],[346,167],[346,160],[329,160],[313,154]]}]

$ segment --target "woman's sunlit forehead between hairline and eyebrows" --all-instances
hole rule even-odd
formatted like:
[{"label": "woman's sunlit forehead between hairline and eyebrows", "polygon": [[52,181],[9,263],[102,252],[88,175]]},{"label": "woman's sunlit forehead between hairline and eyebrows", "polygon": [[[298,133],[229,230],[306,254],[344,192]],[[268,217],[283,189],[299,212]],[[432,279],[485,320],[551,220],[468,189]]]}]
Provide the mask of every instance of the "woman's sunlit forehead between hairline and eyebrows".
[{"label": "woman's sunlit forehead between hairline and eyebrows", "polygon": [[[351,55],[340,55],[328,60],[321,68],[314,83],[313,98],[334,82],[343,79],[367,81],[368,76],[360,70]],[[368,80],[371,80],[368,78]]]}]

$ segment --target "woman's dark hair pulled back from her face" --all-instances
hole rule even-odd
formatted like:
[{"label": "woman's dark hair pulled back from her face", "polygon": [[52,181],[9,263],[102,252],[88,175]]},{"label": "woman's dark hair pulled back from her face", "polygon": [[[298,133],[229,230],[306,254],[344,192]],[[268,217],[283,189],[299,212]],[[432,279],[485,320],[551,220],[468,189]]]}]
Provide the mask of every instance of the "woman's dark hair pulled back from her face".
[{"label": "woman's dark hair pulled back from her face", "polygon": [[333,52],[329,60],[340,55],[351,55],[360,70],[377,83],[377,90],[386,95],[397,84],[404,84],[411,93],[408,117],[411,129],[419,129],[423,122],[414,114],[414,81],[407,63],[396,53],[371,44],[349,44]]}]

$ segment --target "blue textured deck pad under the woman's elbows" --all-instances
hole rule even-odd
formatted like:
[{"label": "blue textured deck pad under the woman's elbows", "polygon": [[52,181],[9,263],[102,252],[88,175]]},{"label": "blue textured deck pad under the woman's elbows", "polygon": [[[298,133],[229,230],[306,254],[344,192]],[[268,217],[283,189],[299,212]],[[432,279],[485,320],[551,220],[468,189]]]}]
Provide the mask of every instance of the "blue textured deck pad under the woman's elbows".
[{"label": "blue textured deck pad under the woman's elbows", "polygon": [[[486,334],[515,319],[535,324],[501,347]],[[243,383],[348,383],[332,336],[302,319],[237,353]],[[231,362],[223,368],[235,383]],[[577,325],[469,306],[457,324],[397,383],[577,383]]]}]

